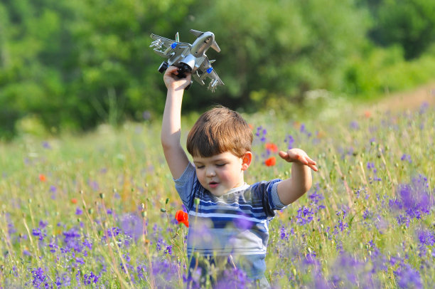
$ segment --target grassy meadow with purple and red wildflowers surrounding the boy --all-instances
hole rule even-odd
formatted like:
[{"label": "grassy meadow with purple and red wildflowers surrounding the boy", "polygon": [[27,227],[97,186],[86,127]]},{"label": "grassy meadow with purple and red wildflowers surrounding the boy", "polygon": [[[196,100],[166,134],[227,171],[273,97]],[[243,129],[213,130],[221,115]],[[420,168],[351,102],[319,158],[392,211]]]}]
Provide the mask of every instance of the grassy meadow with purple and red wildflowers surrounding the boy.
[{"label": "grassy meadow with purple and red wildflowers surrounding the boy", "polygon": [[[319,168],[310,191],[271,222],[273,288],[434,288],[434,105],[244,116],[254,133],[248,184],[289,177],[276,147],[301,147]],[[193,118],[183,119],[183,141]],[[0,144],[1,288],[195,283],[160,124]],[[246,282],[235,269],[222,287]]]}]

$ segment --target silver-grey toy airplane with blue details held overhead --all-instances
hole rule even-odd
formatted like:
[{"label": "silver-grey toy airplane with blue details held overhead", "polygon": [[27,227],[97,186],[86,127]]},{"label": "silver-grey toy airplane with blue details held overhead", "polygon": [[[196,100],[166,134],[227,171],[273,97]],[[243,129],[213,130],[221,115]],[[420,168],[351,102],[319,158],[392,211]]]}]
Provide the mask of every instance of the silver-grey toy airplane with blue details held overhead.
[{"label": "silver-grey toy airplane with blue details held overhead", "polygon": [[186,72],[192,73],[193,79],[198,81],[200,85],[204,85],[204,80],[208,77],[211,79],[208,89],[214,92],[218,85],[224,85],[211,65],[215,61],[208,61],[205,55],[210,47],[220,52],[218,43],[215,41],[215,34],[210,31],[201,32],[193,29],[190,29],[190,32],[197,37],[193,44],[180,42],[178,32],[175,41],[151,33],[151,38],[154,41],[149,47],[154,48],[159,56],[168,58],[167,62],[161,63],[159,73],[164,73],[170,65],[177,66],[178,78],[185,78]]}]

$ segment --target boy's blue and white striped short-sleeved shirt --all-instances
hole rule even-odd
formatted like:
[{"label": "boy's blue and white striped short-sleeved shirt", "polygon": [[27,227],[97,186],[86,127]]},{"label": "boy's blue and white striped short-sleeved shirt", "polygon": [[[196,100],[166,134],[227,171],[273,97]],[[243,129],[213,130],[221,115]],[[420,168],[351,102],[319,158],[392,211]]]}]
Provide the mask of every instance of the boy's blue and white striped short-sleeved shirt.
[{"label": "boy's blue and white striped short-sleeved shirt", "polygon": [[[201,186],[195,167],[189,164],[175,180],[189,215],[187,253],[200,256],[232,256],[243,260],[249,278],[259,279],[266,270],[269,221],[284,209],[276,187],[281,179],[244,184],[222,196]],[[195,199],[198,201],[195,202]]]}]

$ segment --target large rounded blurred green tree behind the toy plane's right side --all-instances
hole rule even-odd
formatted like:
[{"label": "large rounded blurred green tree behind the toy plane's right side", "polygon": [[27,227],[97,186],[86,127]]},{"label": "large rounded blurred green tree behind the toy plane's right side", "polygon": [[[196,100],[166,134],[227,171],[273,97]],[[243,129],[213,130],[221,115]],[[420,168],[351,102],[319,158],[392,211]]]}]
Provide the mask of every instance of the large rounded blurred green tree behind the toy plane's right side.
[{"label": "large rounded blurred green tree behind the toy plane's right side", "polygon": [[[213,100],[236,107],[257,109],[269,98],[301,100],[306,90],[340,89],[344,67],[367,31],[353,1],[223,0],[194,8],[190,26],[215,32],[222,50],[213,58],[225,87]],[[195,90],[192,103],[207,98]]]}]

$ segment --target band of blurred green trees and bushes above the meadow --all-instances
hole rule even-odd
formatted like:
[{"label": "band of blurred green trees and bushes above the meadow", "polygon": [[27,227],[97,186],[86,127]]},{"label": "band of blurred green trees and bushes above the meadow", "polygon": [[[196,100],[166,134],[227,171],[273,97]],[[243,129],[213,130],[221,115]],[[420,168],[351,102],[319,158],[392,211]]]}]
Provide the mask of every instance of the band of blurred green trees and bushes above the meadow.
[{"label": "band of blurred green trees and bushes above the meadow", "polygon": [[[213,31],[225,83],[193,85],[184,111],[303,103],[310,90],[378,95],[433,78],[435,4],[424,0],[3,0],[0,138],[157,117],[166,89],[150,33]],[[431,74],[432,73],[432,74]],[[144,112],[146,112],[144,114]],[[18,124],[18,125],[17,125]]]}]

